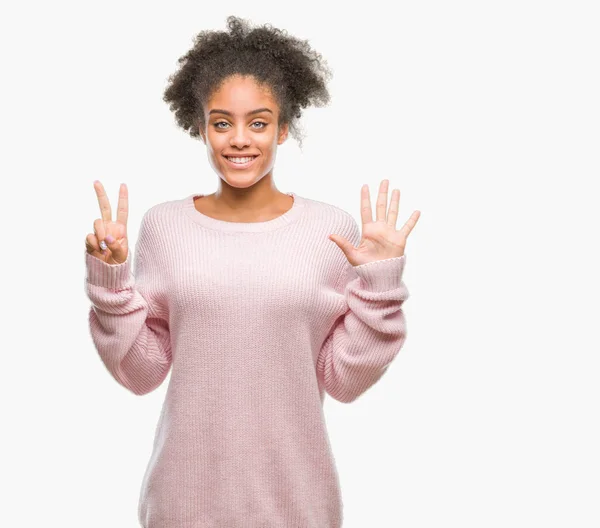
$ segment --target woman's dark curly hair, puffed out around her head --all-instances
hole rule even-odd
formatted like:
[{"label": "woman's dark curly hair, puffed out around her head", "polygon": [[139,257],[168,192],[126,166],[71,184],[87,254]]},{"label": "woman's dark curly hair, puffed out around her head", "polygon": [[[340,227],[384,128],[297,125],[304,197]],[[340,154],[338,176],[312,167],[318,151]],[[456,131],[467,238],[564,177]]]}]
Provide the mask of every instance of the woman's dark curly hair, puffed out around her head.
[{"label": "woman's dark curly hair, puffed out around her head", "polygon": [[227,26],[229,32],[198,33],[194,46],[178,59],[177,72],[169,76],[163,100],[177,125],[197,139],[206,127],[204,103],[231,75],[251,75],[270,88],[280,109],[278,126],[287,123],[302,148],[302,108],[330,101],[326,83],[332,72],[327,61],[307,40],[271,24],[252,28],[248,21],[229,16]]}]

